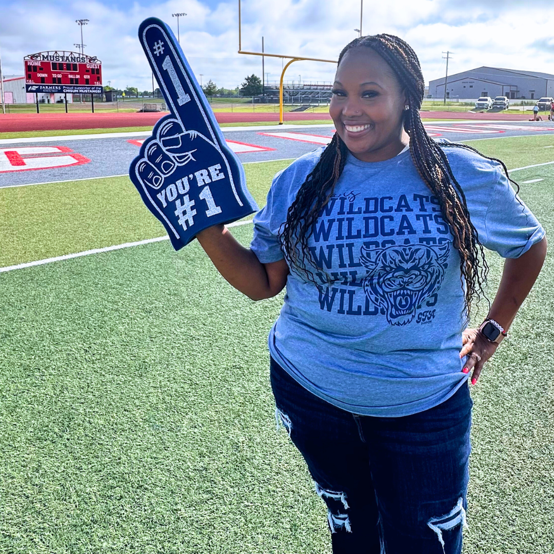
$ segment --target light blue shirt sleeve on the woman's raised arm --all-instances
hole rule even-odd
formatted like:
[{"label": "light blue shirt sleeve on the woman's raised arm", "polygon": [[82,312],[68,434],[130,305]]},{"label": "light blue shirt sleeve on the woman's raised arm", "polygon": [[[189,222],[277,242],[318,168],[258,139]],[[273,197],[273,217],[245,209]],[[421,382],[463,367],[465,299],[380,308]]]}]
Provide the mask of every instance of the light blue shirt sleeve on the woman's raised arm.
[{"label": "light blue shirt sleeve on the woman's raised arm", "polygon": [[[267,202],[254,216],[254,238],[250,243],[250,249],[263,264],[269,264],[284,258],[279,240],[279,228],[283,223],[283,206],[280,206],[280,198],[276,198],[278,195],[275,194],[275,188],[281,173],[283,172],[280,171],[273,178]],[[286,208],[288,206],[285,207],[285,218]]]}]

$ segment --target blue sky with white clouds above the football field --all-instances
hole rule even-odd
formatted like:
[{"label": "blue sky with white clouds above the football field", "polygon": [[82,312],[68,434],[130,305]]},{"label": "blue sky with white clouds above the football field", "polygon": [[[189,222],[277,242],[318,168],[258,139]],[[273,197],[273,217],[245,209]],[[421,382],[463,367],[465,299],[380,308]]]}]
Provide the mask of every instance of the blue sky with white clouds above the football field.
[{"label": "blue sky with white clouds above the football field", "polygon": [[[498,7],[501,6],[501,9]],[[246,75],[261,77],[261,59],[239,55],[238,0],[0,0],[0,52],[6,75],[22,75],[23,57],[40,50],[75,50],[83,29],[85,53],[102,61],[104,84],[151,88],[137,40],[142,19],[171,24],[192,69],[204,83],[234,88]],[[394,0],[364,2],[363,33],[393,33],[412,45],[426,83],[444,75],[442,52],[454,52],[449,73],[481,65],[554,73],[554,10],[534,17],[527,2],[502,0]],[[360,0],[242,0],[243,50],[336,59],[357,36]],[[265,59],[266,78],[278,80],[282,61]],[[286,79],[331,81],[335,66],[295,62]]]}]

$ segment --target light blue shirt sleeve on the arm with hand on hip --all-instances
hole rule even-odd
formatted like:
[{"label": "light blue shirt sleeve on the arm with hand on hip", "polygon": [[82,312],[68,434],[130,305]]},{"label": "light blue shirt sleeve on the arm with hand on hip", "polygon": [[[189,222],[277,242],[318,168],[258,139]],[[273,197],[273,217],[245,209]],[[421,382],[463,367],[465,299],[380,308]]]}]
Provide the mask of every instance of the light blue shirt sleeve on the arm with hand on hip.
[{"label": "light blue shirt sleeve on the arm with hand on hip", "polygon": [[503,258],[519,258],[545,237],[545,230],[500,168],[499,174],[485,215],[484,240],[479,238]]}]

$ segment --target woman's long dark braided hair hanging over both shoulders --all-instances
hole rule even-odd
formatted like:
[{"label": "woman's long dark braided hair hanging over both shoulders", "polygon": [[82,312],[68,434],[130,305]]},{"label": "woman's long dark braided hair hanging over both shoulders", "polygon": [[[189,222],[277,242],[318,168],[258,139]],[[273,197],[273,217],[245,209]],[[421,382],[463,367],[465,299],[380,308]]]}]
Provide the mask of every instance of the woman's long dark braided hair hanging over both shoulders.
[{"label": "woman's long dark braided hair hanging over both shoulders", "polygon": [[[454,237],[453,245],[460,255],[462,289],[464,282],[466,285],[465,308],[469,315],[472,300],[484,296],[483,287],[489,268],[478,233],[471,223],[464,192],[453,175],[443,148],[457,146],[479,154],[480,152],[459,143],[443,143],[439,147],[429,137],[419,116],[424,95],[423,74],[416,53],[404,40],[389,34],[357,38],[342,50],[338,64],[348,50],[356,47],[371,48],[381,55],[391,66],[406,94],[409,110],[404,112],[403,124],[410,136],[410,154],[419,176],[438,198],[442,217]],[[300,187],[295,201],[289,207],[286,222],[281,225],[280,238],[285,258],[293,271],[304,274],[314,284],[316,281],[310,268],[318,268],[318,265],[308,248],[308,240],[317,218],[334,193],[335,185],[345,167],[347,154],[348,148],[338,133],[335,133]],[[507,176],[504,163],[496,158],[488,159],[500,162]],[[519,192],[519,187],[517,190]]]}]

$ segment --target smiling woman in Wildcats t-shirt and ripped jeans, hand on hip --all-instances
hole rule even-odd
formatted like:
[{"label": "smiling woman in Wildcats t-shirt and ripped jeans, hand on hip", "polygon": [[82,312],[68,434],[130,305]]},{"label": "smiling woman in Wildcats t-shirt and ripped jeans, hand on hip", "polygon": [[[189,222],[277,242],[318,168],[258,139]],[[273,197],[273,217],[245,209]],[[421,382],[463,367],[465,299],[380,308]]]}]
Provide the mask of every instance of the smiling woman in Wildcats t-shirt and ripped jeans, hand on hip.
[{"label": "smiling woman in Wildcats t-shirt and ripped jeans, hand on hip", "polygon": [[[269,338],[276,416],[327,504],[333,552],[459,553],[466,383],[534,284],[545,233],[501,163],[426,134],[403,40],[348,44],[334,87],[335,136],[275,177],[251,248],[222,226],[198,240],[250,298],[286,284]],[[483,247],[507,260],[488,320],[466,329]]]}]

